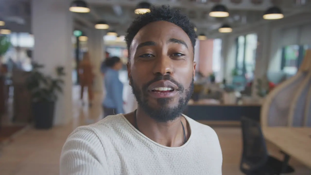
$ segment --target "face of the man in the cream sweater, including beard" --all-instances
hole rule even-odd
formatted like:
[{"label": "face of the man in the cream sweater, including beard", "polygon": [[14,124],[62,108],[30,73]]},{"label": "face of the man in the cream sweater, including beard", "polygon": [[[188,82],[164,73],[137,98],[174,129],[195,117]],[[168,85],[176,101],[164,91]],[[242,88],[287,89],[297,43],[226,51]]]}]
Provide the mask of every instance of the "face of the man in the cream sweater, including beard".
[{"label": "face of the man in the cream sweater, including beard", "polygon": [[142,109],[159,122],[178,117],[193,93],[193,46],[179,26],[152,22],[135,35],[128,77]]}]

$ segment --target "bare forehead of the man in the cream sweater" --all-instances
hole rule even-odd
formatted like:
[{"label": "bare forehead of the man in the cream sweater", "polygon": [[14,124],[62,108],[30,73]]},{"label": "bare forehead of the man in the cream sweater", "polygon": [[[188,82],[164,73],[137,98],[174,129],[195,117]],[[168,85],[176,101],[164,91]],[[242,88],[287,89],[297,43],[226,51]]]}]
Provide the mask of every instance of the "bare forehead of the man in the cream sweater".
[{"label": "bare forehead of the man in the cream sweater", "polygon": [[182,28],[171,22],[156,21],[147,24],[137,32],[132,41],[130,50],[134,51],[137,45],[142,42],[154,41],[158,44],[165,43],[170,38],[183,40],[188,45],[189,49],[192,48],[191,40]]}]

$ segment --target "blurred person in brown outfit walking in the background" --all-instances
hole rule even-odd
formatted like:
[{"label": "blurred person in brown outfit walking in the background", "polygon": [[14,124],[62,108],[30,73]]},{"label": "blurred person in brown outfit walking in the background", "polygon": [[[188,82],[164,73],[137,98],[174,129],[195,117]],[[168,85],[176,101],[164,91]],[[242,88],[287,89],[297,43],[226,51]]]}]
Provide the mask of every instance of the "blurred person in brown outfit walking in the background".
[{"label": "blurred person in brown outfit walking in the background", "polygon": [[93,66],[91,64],[89,52],[84,53],[83,59],[80,62],[79,67],[78,67],[78,73],[79,73],[79,80],[80,80],[80,86],[81,86],[82,104],[84,104],[83,102],[84,87],[87,87],[89,106],[92,106],[94,73],[93,73]]}]

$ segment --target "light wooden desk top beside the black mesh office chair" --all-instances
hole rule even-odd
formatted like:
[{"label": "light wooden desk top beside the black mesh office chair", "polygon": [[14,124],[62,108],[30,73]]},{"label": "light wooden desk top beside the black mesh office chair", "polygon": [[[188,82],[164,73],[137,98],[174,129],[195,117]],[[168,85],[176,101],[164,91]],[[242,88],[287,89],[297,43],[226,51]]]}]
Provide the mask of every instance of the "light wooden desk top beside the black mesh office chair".
[{"label": "light wooden desk top beside the black mesh office chair", "polygon": [[271,143],[311,168],[311,128],[264,127],[262,132]]}]

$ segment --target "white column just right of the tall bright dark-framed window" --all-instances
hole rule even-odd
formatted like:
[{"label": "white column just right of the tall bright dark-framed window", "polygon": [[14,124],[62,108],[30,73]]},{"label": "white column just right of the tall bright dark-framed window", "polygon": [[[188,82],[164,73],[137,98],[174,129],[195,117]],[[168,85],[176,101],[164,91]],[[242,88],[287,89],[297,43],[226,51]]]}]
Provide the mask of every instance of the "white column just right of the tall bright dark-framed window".
[{"label": "white column just right of the tall bright dark-framed window", "polygon": [[266,81],[267,70],[270,62],[271,52],[271,28],[269,24],[262,26],[261,30],[258,30],[258,46],[256,50],[256,65],[254,71],[254,82],[252,86],[252,97],[258,97],[257,95],[257,79],[261,78]]}]

